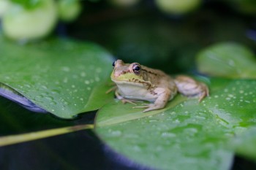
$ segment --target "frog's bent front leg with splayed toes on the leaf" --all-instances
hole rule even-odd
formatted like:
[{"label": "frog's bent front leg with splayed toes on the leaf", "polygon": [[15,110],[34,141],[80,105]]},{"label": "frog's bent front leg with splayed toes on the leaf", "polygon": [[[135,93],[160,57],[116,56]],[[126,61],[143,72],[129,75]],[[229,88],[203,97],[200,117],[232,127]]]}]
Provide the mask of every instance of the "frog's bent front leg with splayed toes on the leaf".
[{"label": "frog's bent front leg with splayed toes on the leaf", "polygon": [[174,96],[171,94],[171,91],[167,88],[155,88],[152,93],[158,96],[156,101],[154,101],[154,104],[145,104],[146,106],[133,108],[147,108],[143,110],[143,112],[148,112],[154,109],[162,109],[167,104],[167,101],[169,101],[170,96]]}]

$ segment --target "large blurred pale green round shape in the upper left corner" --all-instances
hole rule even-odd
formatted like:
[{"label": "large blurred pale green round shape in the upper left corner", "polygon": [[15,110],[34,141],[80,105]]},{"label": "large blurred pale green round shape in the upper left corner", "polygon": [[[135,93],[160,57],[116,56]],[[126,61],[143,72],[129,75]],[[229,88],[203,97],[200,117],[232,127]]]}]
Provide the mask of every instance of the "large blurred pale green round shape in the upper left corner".
[{"label": "large blurred pale green round shape in the upper left corner", "polygon": [[57,12],[53,0],[43,0],[34,8],[26,9],[20,4],[12,4],[3,15],[4,34],[10,39],[40,39],[50,34],[56,26]]}]

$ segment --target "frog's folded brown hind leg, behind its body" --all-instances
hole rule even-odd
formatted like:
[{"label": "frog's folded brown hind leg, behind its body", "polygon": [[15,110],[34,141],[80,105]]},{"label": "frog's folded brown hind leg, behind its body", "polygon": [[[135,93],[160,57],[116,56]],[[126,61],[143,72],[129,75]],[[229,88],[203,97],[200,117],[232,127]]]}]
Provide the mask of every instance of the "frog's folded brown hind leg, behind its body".
[{"label": "frog's folded brown hind leg, behind its body", "polygon": [[174,80],[178,88],[178,92],[184,96],[196,96],[201,101],[204,97],[209,96],[209,90],[206,84],[203,82],[197,82],[191,77],[184,75],[176,77]]}]

